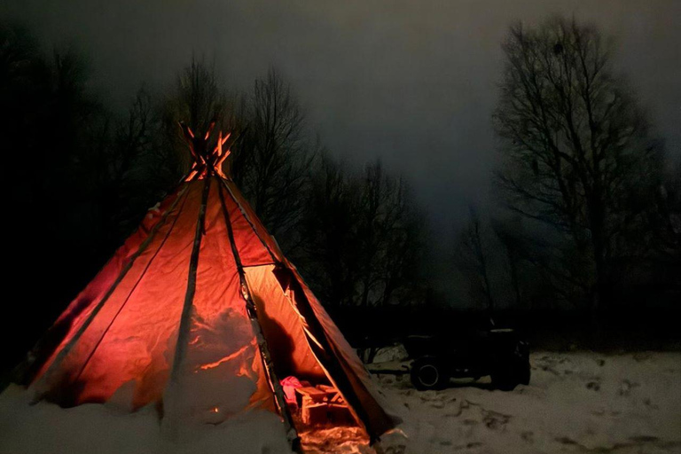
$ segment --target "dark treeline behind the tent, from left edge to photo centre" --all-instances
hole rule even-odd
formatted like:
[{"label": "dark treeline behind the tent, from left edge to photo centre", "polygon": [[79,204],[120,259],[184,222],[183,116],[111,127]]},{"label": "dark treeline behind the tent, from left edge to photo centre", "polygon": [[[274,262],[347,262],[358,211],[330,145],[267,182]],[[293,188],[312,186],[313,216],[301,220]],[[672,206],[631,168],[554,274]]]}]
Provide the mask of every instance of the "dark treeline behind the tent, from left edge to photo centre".
[{"label": "dark treeline behind the tent, from left edge to photo centre", "polygon": [[85,55],[0,25],[5,278],[19,292],[6,295],[18,317],[5,318],[4,332],[19,332],[7,367],[184,176],[178,121],[231,132],[231,175],[327,306],[422,298],[424,223],[407,184],[379,161],[364,171],[335,162],[274,69],[238,92],[192,58],[121,114],[90,89]]}]

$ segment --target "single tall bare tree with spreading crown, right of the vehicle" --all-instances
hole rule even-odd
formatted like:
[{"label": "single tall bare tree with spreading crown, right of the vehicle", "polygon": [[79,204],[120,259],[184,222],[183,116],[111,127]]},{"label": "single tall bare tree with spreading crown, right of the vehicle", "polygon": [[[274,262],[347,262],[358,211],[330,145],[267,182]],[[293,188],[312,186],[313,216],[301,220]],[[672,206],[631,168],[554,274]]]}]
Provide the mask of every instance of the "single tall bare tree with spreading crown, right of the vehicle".
[{"label": "single tall bare tree with spreading crown, right of the vehicle", "polygon": [[651,247],[661,149],[593,27],[553,19],[511,28],[494,121],[508,206],[552,229],[554,276],[592,309],[612,301],[615,268]]}]

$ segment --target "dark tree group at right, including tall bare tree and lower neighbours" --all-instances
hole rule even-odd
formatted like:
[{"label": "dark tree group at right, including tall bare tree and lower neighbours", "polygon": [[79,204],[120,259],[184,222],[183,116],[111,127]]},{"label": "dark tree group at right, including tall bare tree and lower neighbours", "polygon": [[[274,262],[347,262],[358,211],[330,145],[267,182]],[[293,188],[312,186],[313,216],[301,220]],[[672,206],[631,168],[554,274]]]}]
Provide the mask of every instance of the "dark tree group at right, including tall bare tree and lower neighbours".
[{"label": "dark tree group at right, including tall bare tree and lower neighbours", "polygon": [[477,299],[606,317],[677,306],[681,166],[667,171],[610,41],[555,18],[514,25],[502,48],[502,207],[474,214],[457,252]]}]

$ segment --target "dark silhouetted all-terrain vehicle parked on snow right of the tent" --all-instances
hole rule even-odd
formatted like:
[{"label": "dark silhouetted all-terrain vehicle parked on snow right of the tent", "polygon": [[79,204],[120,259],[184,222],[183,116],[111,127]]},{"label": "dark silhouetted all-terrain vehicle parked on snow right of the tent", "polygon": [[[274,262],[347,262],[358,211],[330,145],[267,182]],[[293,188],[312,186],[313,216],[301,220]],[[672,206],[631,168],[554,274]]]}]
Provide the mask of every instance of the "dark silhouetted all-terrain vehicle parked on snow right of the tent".
[{"label": "dark silhouetted all-terrain vehicle parked on snow right of the tent", "polygon": [[480,379],[504,391],[529,384],[529,348],[513,329],[456,330],[403,340],[413,359],[411,383],[419,390],[444,387],[450,378]]}]

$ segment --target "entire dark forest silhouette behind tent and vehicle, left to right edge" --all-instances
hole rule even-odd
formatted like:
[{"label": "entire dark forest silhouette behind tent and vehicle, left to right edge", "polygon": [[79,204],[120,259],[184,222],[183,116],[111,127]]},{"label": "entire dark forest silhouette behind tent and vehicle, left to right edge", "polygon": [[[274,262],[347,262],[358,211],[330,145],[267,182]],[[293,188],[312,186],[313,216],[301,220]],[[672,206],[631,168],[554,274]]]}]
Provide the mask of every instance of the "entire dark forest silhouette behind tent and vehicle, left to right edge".
[{"label": "entire dark forest silhouette behind tent and vehicle, left to right edge", "polygon": [[[503,49],[494,122],[504,207],[472,210],[451,273],[489,309],[607,315],[625,303],[677,301],[681,168],[665,173],[661,141],[614,73],[606,40],[551,20],[513,26]],[[184,174],[178,121],[204,130],[217,119],[232,132],[232,176],[333,312],[461,303],[432,291],[425,265],[439,241],[428,246],[407,181],[380,161],[356,170],[333,160],[275,69],[240,93],[191,59],[173,85],[141,88],[121,115],[90,90],[81,52],[43,51],[29,30],[4,24],[0,106],[6,278],[22,289],[12,297],[19,317],[5,322],[20,324],[9,363]]]}]

